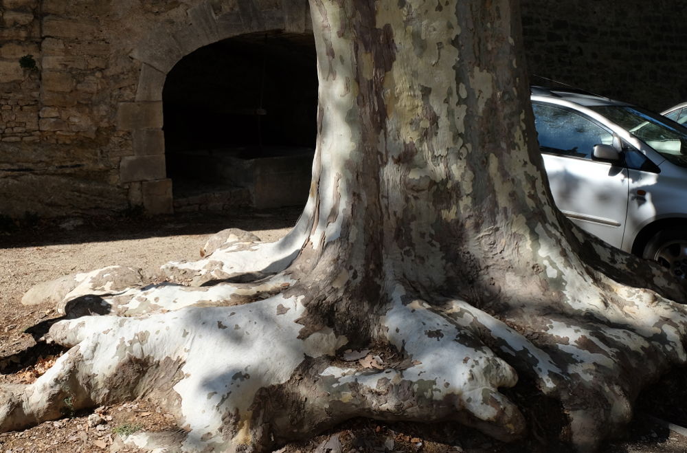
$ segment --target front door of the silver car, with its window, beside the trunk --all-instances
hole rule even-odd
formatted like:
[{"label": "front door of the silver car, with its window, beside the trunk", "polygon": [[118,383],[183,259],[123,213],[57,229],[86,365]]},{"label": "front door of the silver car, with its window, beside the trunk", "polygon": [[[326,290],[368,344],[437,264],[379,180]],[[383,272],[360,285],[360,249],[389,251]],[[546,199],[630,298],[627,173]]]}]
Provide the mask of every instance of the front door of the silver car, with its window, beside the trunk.
[{"label": "front door of the silver car, with its window, beside the trunk", "polygon": [[539,147],[556,206],[583,230],[620,247],[627,216],[627,168],[592,159],[613,133],[582,113],[533,103]]}]

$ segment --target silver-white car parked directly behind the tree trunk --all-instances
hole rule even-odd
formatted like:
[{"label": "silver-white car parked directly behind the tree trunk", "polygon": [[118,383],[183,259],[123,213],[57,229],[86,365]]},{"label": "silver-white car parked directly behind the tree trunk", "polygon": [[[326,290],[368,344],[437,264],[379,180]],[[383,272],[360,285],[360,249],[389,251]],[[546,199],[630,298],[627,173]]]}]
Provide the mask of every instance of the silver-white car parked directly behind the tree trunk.
[{"label": "silver-white car parked directly behind the tree trunk", "polygon": [[603,241],[686,278],[687,129],[578,91],[532,87],[531,98],[556,206]]}]

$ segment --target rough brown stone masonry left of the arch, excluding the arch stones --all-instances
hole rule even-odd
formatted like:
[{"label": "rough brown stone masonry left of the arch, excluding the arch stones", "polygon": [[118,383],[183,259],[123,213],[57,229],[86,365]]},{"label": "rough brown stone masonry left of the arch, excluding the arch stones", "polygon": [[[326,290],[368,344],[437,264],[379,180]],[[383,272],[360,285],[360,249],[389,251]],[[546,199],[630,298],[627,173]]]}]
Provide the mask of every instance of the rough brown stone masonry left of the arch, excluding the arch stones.
[{"label": "rough brown stone masonry left of the arch, excluding the arch stones", "polygon": [[120,21],[100,1],[2,0],[1,14],[0,212],[126,208],[118,167],[131,134],[115,119],[137,67]]}]

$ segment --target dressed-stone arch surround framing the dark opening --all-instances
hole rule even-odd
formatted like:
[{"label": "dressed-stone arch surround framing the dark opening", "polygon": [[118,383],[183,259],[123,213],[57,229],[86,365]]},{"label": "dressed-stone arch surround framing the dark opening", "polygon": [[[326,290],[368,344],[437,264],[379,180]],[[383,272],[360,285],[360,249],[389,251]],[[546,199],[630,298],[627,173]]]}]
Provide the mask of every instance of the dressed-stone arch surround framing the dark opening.
[{"label": "dressed-stone arch surround framing the dark opening", "polygon": [[162,91],[169,71],[200,47],[256,32],[312,32],[308,3],[205,0],[187,11],[184,21],[159,23],[130,56],[140,67],[134,102],[121,102],[117,129],[129,131],[132,154],[122,157],[120,183],[128,199],[150,214],[173,212],[172,180],[166,174]]}]

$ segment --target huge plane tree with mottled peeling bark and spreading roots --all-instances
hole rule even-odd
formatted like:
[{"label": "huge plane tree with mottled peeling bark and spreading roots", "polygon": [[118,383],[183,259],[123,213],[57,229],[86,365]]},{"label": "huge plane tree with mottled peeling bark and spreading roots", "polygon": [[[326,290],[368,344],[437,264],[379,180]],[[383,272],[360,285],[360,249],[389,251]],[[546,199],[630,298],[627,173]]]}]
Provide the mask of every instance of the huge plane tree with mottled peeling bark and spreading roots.
[{"label": "huge plane tree with mottled peeling bark and spreading roots", "polygon": [[[187,451],[263,451],[352,417],[508,441],[530,420],[500,390],[521,379],[589,449],[684,364],[687,313],[668,300],[682,288],[554,208],[517,0],[311,0],[311,14],[317,152],[295,228],[277,243],[229,231],[167,265],[176,283],[111,267],[31,291],[71,318],[49,331],[69,351],[3,388],[0,431],[145,396]],[[399,360],[343,353],[363,348]]]}]

